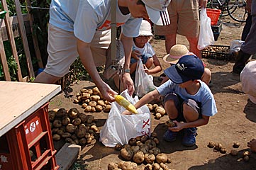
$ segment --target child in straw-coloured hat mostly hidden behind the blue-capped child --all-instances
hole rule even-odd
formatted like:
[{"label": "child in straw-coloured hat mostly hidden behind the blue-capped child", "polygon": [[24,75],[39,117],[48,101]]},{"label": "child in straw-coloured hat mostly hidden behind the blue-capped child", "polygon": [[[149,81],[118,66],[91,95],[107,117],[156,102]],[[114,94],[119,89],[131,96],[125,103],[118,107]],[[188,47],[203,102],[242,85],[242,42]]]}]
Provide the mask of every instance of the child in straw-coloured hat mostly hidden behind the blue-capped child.
[{"label": "child in straw-coloured hat mostly hidden behind the blue-capped child", "polygon": [[[171,65],[176,64],[179,59],[185,55],[194,55],[194,53],[189,52],[185,45],[174,45],[169,50],[169,54],[165,55],[163,60]],[[162,79],[161,84],[164,84],[169,78],[165,77]],[[209,85],[211,81],[211,70],[208,68],[204,68],[204,74],[201,77],[201,81],[204,81],[207,85]]]}]

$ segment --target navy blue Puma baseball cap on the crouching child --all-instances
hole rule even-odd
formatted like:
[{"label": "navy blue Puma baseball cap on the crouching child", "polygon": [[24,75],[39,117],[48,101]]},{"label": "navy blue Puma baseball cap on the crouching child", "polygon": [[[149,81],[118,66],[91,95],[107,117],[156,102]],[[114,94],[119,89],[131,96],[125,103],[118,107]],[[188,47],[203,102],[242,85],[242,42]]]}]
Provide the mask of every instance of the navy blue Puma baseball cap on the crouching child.
[{"label": "navy blue Puma baseball cap on the crouching child", "polygon": [[182,84],[189,80],[201,79],[204,74],[204,64],[195,55],[184,55],[177,64],[165,69],[164,73],[175,84]]}]

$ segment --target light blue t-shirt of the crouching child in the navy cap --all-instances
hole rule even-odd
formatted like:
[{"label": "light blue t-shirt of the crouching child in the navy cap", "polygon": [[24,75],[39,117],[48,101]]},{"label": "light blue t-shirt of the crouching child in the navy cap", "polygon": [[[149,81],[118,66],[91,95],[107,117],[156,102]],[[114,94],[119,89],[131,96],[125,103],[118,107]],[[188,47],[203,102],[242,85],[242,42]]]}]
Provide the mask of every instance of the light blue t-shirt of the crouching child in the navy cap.
[{"label": "light blue t-shirt of the crouching child in the navy cap", "polygon": [[194,101],[201,103],[202,115],[213,116],[218,111],[211,89],[209,89],[203,81],[200,81],[200,84],[199,91],[194,95],[188,94],[186,89],[179,87],[179,84],[174,84],[171,80],[168,80],[165,84],[157,87],[157,91],[161,96],[174,93],[178,94],[183,100],[193,99]]}]

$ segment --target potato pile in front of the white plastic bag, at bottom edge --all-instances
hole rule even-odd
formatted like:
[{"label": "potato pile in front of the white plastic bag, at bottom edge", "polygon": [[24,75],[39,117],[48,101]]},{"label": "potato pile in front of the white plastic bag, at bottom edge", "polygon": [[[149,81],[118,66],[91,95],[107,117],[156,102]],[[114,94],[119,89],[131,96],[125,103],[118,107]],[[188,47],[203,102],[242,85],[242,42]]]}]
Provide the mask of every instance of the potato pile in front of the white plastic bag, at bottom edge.
[{"label": "potato pile in front of the white plastic bag, at bottom edge", "polygon": [[161,153],[160,148],[157,147],[158,144],[159,140],[155,132],[152,132],[151,137],[143,135],[131,138],[127,145],[117,144],[115,149],[120,150],[123,161],[109,163],[108,170],[169,169],[166,163],[170,163],[171,160],[167,157],[167,154]]}]

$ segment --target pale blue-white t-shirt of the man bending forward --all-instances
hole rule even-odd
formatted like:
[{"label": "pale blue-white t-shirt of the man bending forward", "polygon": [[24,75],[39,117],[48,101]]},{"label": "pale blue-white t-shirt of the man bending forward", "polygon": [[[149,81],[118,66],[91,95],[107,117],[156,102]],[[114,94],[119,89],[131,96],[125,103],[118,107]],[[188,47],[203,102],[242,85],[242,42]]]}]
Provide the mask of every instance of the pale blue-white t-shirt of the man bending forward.
[{"label": "pale blue-white t-shirt of the man bending forward", "polygon": [[[116,0],[117,1],[117,0]],[[117,3],[116,3],[117,4]],[[123,15],[116,6],[116,23],[127,37],[137,37],[142,18]],[[111,0],[52,0],[50,21],[84,42],[91,42],[96,30],[111,28]]]}]

